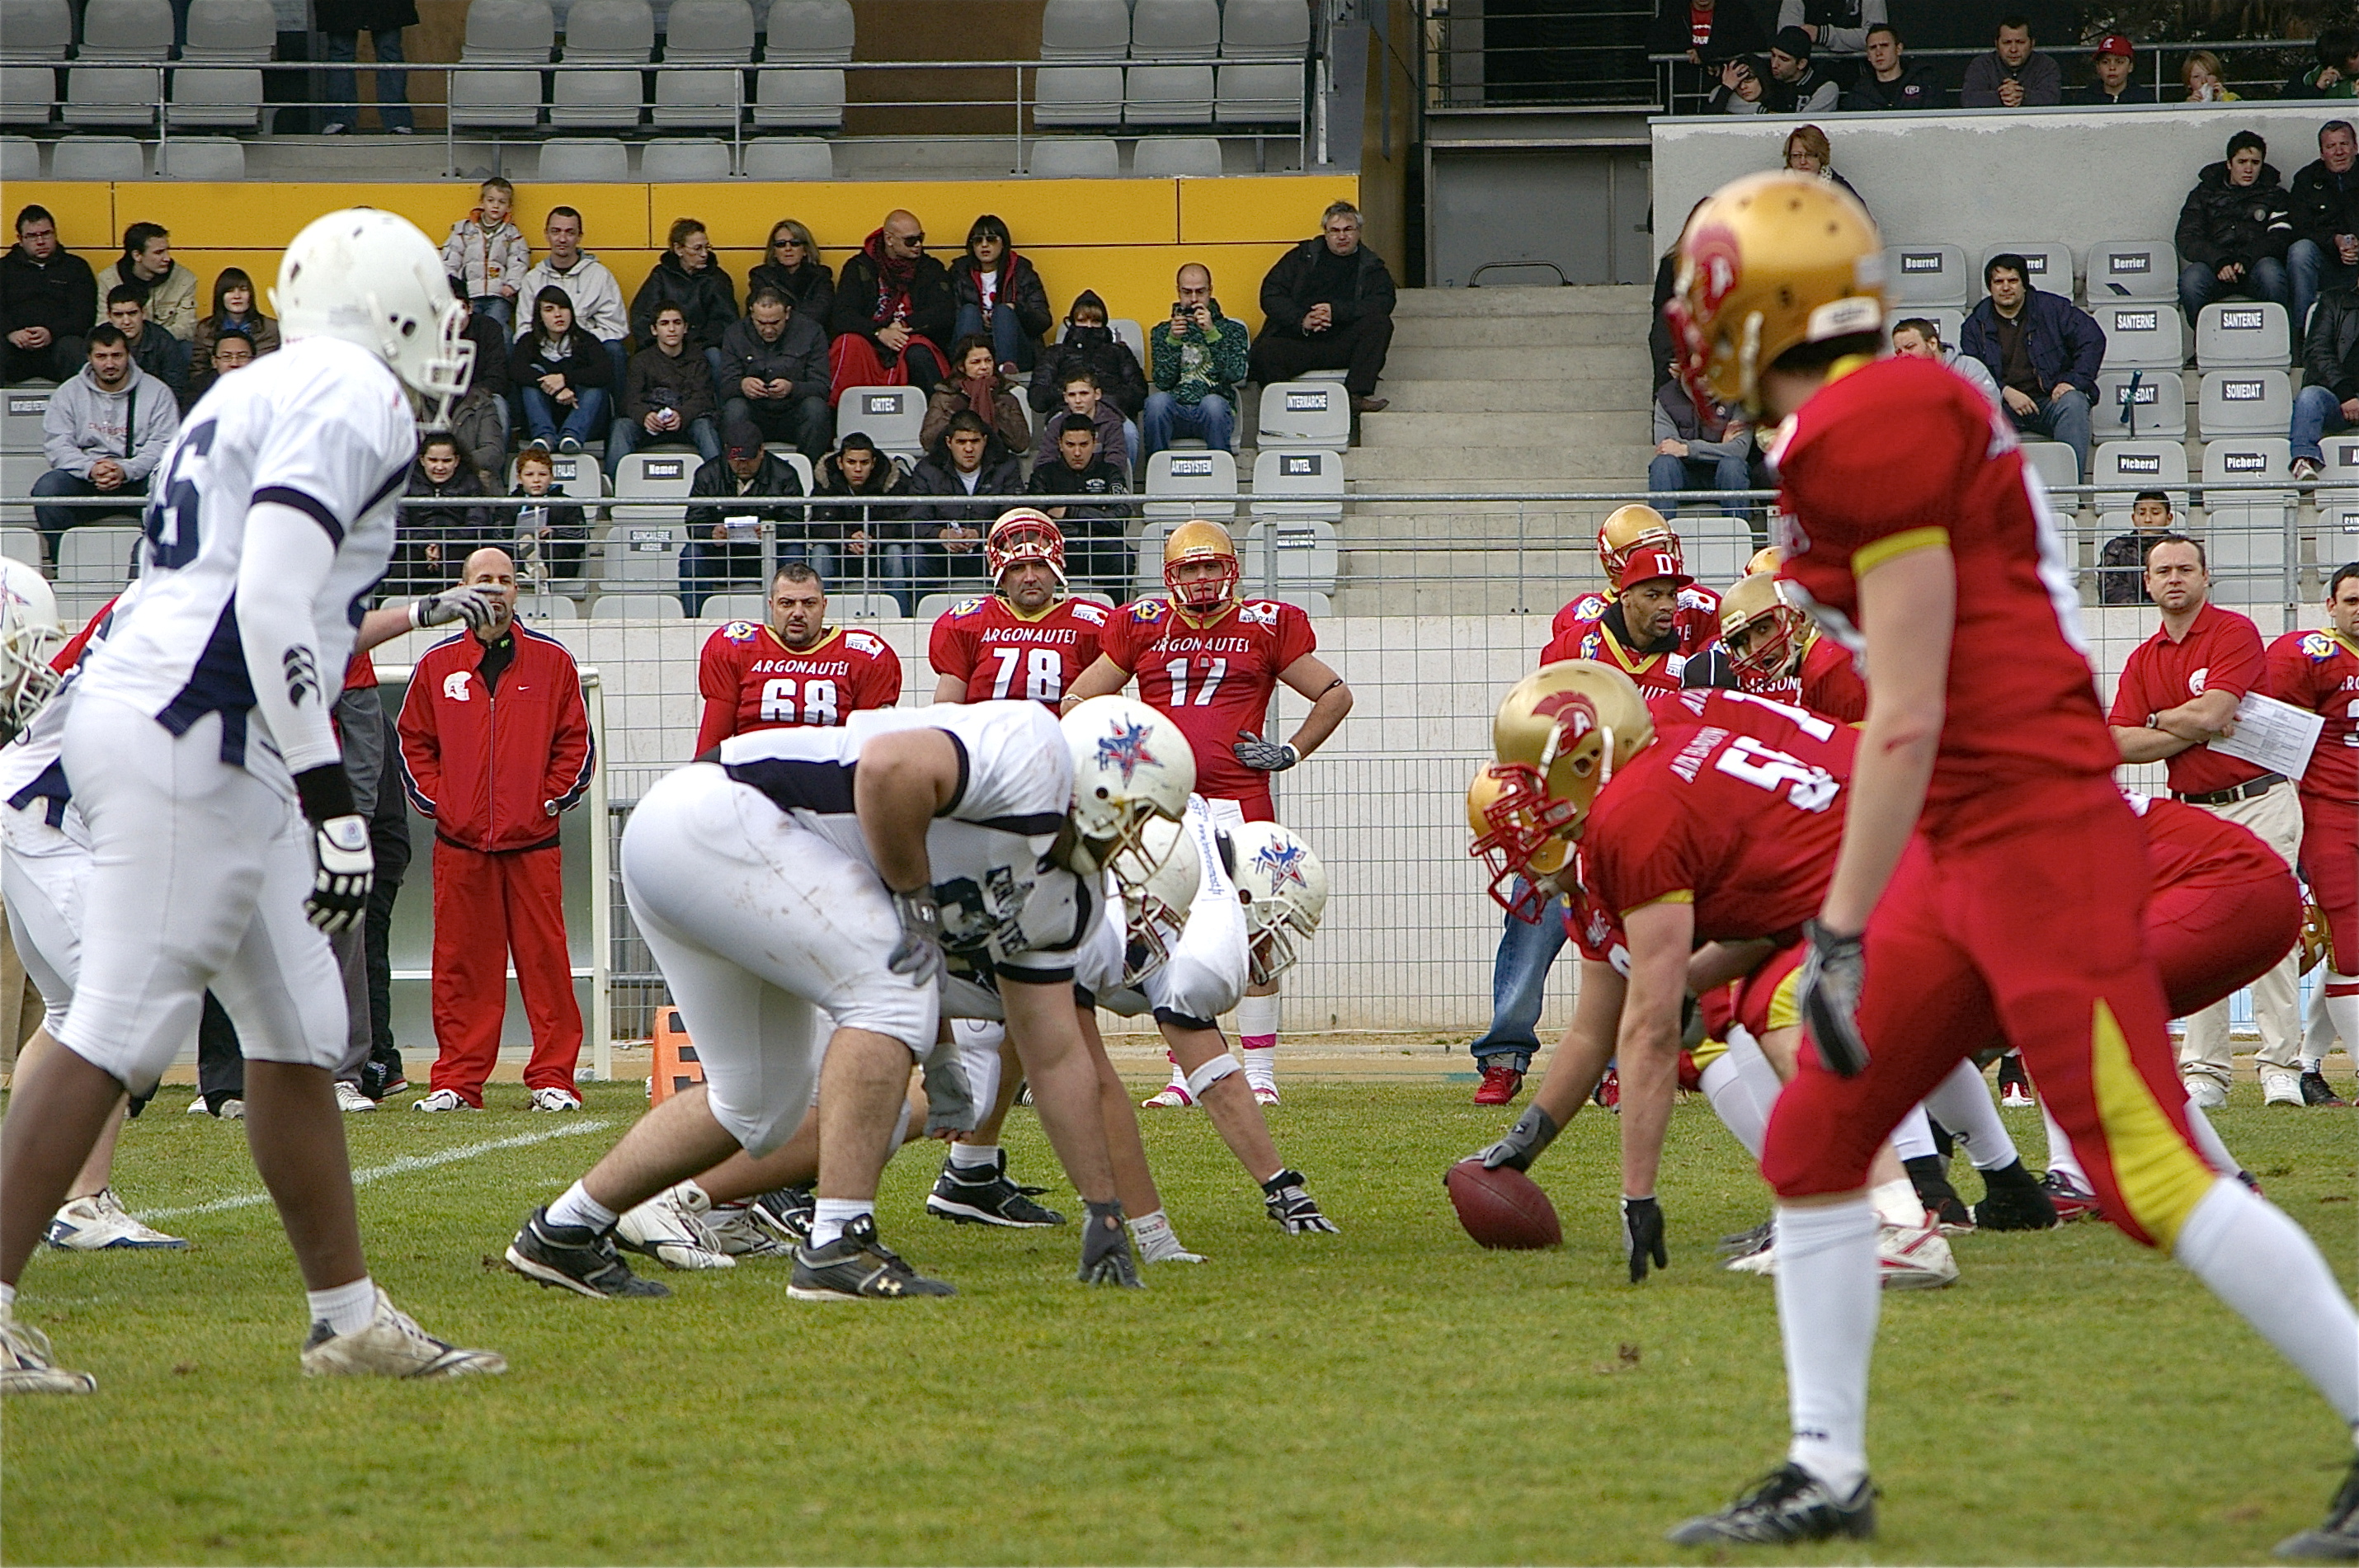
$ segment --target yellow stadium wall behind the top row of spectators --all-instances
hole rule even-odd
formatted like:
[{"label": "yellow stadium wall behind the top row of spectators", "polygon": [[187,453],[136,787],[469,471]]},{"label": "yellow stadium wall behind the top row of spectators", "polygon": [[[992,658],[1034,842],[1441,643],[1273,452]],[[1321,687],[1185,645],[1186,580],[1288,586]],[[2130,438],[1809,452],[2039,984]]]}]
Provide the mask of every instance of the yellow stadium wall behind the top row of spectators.
[{"label": "yellow stadium wall behind the top row of spectators", "polygon": [[[998,212],[1047,285],[1050,307],[1064,316],[1083,288],[1104,295],[1116,316],[1154,325],[1170,314],[1172,274],[1182,262],[1213,269],[1215,295],[1229,316],[1262,325],[1262,274],[1279,252],[1319,231],[1319,212],[1338,198],[1356,200],[1354,174],[1231,174],[1222,179],[944,179],[944,182],[828,182],[828,184],[526,184],[517,217],[540,250],[550,207],[583,215],[587,245],[623,283],[639,288],[663,255],[675,217],[703,219],[722,266],[741,297],[745,274],[762,259],[762,241],[781,217],[809,224],[821,255],[842,262],[882,222],[908,207],[925,222],[934,255],[965,248],[967,224]],[[134,222],[172,231],[172,255],[198,276],[203,302],[224,266],[243,266],[269,288],[278,248],[309,219],[340,205],[366,203],[401,212],[436,243],[474,205],[458,182],[418,184],[83,184],[19,182],[0,193],[9,212],[40,203],[57,215],[59,236],[92,266],[113,259],[113,241]],[[1399,266],[1397,255],[1387,259]]]}]

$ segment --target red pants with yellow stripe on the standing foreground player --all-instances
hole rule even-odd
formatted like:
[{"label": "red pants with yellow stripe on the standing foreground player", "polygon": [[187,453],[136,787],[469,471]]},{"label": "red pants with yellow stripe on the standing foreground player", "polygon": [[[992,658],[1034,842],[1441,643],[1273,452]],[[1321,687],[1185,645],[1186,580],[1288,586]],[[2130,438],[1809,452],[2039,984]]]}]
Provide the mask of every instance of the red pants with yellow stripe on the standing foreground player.
[{"label": "red pants with yellow stripe on the standing foreground player", "polygon": [[1868,1068],[1835,1078],[1802,1052],[1769,1113],[1762,1177],[1781,1198],[1866,1186],[1901,1115],[2003,1033],[2107,1219],[2170,1245],[2215,1174],[2187,1141],[2144,898],[2144,832],[2102,778],[2017,788],[1939,851],[1911,844],[1868,922]]}]

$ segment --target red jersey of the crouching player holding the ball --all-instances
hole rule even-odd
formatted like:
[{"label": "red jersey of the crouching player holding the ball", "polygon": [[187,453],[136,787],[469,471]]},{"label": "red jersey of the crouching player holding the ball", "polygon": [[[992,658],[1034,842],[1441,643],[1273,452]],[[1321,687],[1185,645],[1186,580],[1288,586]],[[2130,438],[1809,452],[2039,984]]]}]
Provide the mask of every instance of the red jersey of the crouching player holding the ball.
[{"label": "red jersey of the crouching player holding the ball", "polygon": [[1835,875],[1859,731],[1717,686],[1651,710],[1656,743],[1590,809],[1583,887],[1623,920],[1694,903],[1698,941],[1790,936]]}]

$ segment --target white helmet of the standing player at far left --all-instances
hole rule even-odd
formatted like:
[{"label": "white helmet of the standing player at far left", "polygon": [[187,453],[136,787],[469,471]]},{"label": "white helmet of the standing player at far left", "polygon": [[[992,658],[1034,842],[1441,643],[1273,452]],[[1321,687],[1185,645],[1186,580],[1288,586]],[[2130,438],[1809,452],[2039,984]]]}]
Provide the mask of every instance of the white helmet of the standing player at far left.
[{"label": "white helmet of the standing player at far left", "polygon": [[420,396],[429,427],[467,391],[467,311],[441,252],[406,217],[344,207],[311,219],[278,257],[271,307],[288,342],[340,337],[382,358]]}]

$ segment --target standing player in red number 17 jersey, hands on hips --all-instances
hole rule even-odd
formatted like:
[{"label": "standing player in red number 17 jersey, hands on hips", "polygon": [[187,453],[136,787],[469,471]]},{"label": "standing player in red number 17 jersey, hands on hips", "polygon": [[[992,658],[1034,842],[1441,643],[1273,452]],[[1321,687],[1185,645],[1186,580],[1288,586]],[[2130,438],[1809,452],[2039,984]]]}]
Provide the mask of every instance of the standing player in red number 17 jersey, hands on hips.
[{"label": "standing player in red number 17 jersey, hands on hips", "polygon": [[[1163,540],[1163,587],[1170,599],[1135,599],[1113,613],[1104,653],[1083,670],[1066,698],[1078,703],[1121,691],[1135,674],[1139,700],[1165,714],[1196,747],[1198,785],[1217,825],[1272,823],[1269,776],[1316,752],[1352,712],[1352,689],[1316,655],[1319,637],[1300,606],[1238,594],[1241,568],[1229,531],[1187,521]],[[1269,740],[1269,700],[1279,681],[1312,710],[1290,740]],[[1248,986],[1236,1004],[1236,1033],[1253,1099],[1279,1103],[1279,986]],[[1184,1106],[1187,1075],[1146,1101]]]}]

